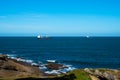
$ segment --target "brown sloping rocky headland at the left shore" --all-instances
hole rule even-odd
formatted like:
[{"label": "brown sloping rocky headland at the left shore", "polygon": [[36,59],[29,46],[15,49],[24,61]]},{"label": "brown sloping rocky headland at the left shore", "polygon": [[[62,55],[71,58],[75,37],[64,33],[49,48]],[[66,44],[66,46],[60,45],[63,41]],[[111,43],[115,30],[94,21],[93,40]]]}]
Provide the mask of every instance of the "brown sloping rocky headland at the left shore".
[{"label": "brown sloping rocky headland at the left shore", "polygon": [[25,64],[26,63],[24,62],[20,64],[19,62],[8,58],[7,55],[0,55],[0,78],[40,74],[39,68],[30,65],[26,66]]}]

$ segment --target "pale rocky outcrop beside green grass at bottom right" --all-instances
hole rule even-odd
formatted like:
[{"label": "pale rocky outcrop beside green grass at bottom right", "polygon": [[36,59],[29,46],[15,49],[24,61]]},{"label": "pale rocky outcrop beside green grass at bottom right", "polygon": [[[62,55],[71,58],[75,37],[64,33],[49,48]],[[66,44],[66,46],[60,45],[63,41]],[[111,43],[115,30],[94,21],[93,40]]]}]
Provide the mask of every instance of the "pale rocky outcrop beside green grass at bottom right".
[{"label": "pale rocky outcrop beside green grass at bottom right", "polygon": [[120,80],[120,70],[85,68],[84,71],[89,73],[92,78],[96,77],[92,80]]}]

